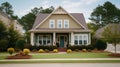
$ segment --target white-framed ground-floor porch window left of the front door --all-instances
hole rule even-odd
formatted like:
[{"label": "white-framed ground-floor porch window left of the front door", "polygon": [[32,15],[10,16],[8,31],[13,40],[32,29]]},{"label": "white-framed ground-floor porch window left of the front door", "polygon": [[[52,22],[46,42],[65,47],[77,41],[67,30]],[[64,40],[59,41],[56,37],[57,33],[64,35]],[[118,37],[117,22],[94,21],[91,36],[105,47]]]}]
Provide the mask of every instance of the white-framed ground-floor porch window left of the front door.
[{"label": "white-framed ground-floor porch window left of the front door", "polygon": [[38,38],[40,45],[48,45],[51,43],[51,36],[50,35],[40,35]]}]

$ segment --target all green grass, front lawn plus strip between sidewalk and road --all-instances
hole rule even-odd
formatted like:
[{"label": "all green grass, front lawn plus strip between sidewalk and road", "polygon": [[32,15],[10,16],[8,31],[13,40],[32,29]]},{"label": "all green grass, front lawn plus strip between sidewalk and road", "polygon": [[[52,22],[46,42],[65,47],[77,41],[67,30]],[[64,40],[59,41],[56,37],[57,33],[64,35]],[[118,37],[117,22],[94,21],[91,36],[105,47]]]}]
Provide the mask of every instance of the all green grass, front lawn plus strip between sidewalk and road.
[{"label": "all green grass, front lawn plus strip between sidewalk and road", "polygon": [[[92,53],[92,52],[73,52],[66,54],[57,53],[30,53],[32,59],[43,58],[113,58],[108,56],[109,53]],[[8,53],[0,53],[0,60],[9,56]],[[34,61],[0,61],[5,63],[120,63],[120,60],[34,60]]]}]

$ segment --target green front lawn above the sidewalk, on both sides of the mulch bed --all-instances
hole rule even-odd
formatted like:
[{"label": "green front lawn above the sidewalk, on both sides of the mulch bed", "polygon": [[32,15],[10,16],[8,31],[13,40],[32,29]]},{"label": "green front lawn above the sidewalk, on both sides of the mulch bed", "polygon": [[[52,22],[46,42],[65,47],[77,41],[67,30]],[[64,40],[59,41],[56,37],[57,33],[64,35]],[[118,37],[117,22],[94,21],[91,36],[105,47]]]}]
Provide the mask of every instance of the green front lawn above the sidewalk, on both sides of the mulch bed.
[{"label": "green front lawn above the sidewalk, on both sides of the mulch bed", "polygon": [[[107,52],[73,52],[66,54],[58,54],[58,53],[30,53],[32,55],[32,59],[42,59],[42,58],[113,58],[108,56]],[[0,59],[4,59],[9,56],[8,53],[0,53]]]}]

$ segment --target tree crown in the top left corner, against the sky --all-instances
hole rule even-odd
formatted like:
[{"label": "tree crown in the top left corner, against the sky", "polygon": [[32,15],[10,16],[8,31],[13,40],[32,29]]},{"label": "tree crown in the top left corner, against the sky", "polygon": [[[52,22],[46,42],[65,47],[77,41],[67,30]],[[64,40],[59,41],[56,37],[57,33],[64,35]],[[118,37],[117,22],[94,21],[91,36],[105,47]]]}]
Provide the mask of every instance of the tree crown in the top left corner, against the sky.
[{"label": "tree crown in the top left corner, against the sky", "polygon": [[0,6],[0,10],[7,15],[13,15],[12,5],[9,2],[2,3]]}]

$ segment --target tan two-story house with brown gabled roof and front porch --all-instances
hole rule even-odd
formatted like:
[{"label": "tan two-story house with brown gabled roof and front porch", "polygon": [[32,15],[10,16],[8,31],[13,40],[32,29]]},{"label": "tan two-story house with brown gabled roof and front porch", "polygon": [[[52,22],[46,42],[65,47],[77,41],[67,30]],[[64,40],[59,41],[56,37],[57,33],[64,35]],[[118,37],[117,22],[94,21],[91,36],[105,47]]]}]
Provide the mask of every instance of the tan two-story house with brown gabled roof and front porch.
[{"label": "tan two-story house with brown gabled roof and front porch", "polygon": [[31,33],[31,45],[88,45],[90,30],[82,13],[68,13],[61,6],[51,14],[39,14]]}]

